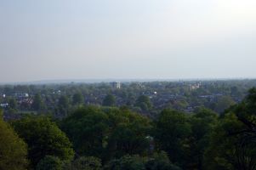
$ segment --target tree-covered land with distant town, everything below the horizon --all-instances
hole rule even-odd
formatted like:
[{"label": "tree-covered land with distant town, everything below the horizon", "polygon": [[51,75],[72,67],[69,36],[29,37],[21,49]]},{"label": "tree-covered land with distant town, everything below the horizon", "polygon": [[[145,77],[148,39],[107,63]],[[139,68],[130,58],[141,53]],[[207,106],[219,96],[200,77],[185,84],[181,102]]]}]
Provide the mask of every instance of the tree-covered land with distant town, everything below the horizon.
[{"label": "tree-covered land with distant town, everything below the horizon", "polygon": [[0,87],[0,170],[256,169],[256,81]]}]

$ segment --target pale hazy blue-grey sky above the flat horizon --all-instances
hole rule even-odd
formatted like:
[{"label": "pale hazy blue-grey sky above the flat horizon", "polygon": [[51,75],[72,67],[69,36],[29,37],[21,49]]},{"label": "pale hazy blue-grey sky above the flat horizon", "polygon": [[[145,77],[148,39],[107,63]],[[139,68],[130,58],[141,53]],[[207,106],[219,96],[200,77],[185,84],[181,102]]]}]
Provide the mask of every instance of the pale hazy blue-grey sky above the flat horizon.
[{"label": "pale hazy blue-grey sky above the flat horizon", "polygon": [[256,77],[255,0],[0,0],[0,82]]}]

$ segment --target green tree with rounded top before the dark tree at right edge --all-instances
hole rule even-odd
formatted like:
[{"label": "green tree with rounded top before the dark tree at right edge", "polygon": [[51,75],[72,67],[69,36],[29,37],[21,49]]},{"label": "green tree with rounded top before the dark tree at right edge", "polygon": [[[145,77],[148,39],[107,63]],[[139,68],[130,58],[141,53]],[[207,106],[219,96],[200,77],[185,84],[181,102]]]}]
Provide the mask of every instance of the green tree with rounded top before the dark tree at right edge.
[{"label": "green tree with rounded top before the dark tree at right edge", "polygon": [[[208,169],[236,169],[236,154],[239,154],[239,139],[230,135],[231,131],[241,129],[242,123],[235,115],[226,115],[211,135],[211,143],[206,152],[205,167]],[[240,169],[237,167],[237,169]]]}]

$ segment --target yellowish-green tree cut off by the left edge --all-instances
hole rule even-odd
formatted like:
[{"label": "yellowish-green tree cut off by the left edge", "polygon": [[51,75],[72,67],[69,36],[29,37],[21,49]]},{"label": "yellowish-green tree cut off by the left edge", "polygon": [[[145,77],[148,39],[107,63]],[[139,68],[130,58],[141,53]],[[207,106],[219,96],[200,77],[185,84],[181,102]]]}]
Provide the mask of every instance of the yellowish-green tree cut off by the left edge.
[{"label": "yellowish-green tree cut off by the left edge", "polygon": [[[0,111],[1,115],[1,111]],[[25,142],[0,118],[0,169],[25,170],[28,161]]]}]

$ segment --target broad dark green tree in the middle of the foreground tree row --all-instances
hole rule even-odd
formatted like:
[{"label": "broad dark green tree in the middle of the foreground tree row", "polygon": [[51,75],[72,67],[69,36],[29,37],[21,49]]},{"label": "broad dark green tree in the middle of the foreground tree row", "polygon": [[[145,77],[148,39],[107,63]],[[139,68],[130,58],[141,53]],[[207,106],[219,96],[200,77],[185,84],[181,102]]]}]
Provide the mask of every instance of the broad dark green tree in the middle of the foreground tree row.
[{"label": "broad dark green tree in the middle of the foreground tree row", "polygon": [[151,121],[127,109],[108,112],[111,123],[107,150],[109,156],[144,154],[149,150]]}]

